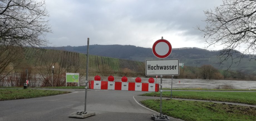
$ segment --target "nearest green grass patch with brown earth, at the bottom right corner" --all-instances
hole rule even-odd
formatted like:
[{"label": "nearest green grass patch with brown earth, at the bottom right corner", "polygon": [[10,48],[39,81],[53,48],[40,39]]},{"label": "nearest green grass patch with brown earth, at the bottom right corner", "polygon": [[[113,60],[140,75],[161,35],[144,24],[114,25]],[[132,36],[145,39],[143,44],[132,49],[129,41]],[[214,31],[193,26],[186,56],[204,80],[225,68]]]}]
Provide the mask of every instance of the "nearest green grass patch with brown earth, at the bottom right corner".
[{"label": "nearest green grass patch with brown earth, at the bottom right corner", "polygon": [[[160,100],[141,101],[146,107],[160,112]],[[163,100],[162,112],[186,121],[255,121],[256,108],[213,102]]]}]

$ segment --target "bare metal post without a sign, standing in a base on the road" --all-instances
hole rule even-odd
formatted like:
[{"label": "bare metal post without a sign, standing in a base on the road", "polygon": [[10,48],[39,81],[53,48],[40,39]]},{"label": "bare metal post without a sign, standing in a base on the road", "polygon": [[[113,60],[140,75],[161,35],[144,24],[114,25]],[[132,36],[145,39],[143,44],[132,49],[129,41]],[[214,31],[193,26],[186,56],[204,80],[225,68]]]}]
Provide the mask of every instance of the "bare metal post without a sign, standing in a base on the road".
[{"label": "bare metal post without a sign, standing in a base on the road", "polygon": [[71,114],[70,118],[79,118],[83,119],[92,115],[96,115],[95,112],[86,112],[86,97],[87,97],[87,87],[88,87],[88,61],[89,61],[89,38],[87,38],[87,62],[86,62],[86,80],[85,80],[85,102],[84,102],[84,111]]}]

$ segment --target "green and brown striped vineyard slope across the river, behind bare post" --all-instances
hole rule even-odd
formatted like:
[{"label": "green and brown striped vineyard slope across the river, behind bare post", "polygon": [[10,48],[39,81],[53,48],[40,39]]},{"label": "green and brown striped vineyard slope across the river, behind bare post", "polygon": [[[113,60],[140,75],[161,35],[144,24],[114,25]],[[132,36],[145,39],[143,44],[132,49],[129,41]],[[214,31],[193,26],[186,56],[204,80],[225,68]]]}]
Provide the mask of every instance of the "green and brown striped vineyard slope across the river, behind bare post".
[{"label": "green and brown striped vineyard slope across the river, behind bare post", "polygon": [[[76,59],[79,59],[79,62],[81,63],[80,68],[86,69],[86,54],[50,49],[39,50],[35,52],[34,49],[28,48],[24,56],[25,59],[20,65],[21,67],[36,67],[43,64],[42,60],[53,60],[55,59],[54,57],[61,57],[63,58],[63,61],[66,62],[72,62]],[[90,55],[89,69],[98,71],[100,66],[109,66],[113,71],[122,71],[122,69],[128,68],[134,72],[139,72],[139,68],[144,66],[144,64],[137,61]]]}]

